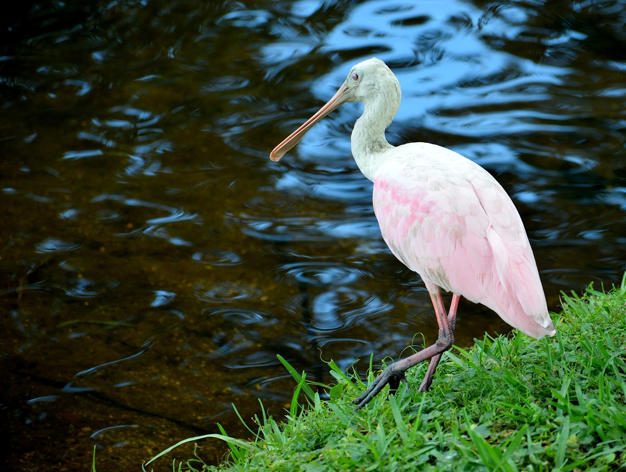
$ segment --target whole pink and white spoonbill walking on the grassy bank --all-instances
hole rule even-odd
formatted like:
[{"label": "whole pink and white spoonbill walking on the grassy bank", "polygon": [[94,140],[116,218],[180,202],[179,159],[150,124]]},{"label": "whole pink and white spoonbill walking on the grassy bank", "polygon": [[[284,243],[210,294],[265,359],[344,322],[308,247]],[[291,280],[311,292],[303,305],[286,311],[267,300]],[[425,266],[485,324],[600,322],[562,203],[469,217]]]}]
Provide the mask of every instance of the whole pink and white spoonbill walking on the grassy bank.
[{"label": "whole pink and white spoonbill walking on the grassy bank", "polygon": [[[405,372],[428,361],[418,391],[428,391],[443,352],[454,343],[459,298],[495,311],[528,336],[554,336],[528,235],[515,204],[498,181],[472,160],[443,146],[393,146],[385,136],[399,110],[396,75],[377,58],[353,66],[326,105],[272,150],[277,162],[302,136],[342,103],[361,101],[352,156],[374,183],[372,206],[382,238],[406,267],[419,274],[439,326],[434,344],[393,362],[362,392],[356,410],[384,386],[395,392]],[[452,293],[448,312],[442,290]]]}]

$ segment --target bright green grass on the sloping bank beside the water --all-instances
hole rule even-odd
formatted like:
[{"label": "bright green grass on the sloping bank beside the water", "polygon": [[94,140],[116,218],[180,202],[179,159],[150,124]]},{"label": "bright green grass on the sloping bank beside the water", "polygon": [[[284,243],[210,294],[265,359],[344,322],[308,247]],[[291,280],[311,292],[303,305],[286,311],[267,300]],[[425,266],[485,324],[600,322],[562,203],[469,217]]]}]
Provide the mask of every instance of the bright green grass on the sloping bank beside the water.
[{"label": "bright green grass on the sloping bank beside the water", "polygon": [[364,388],[359,379],[331,362],[337,383],[321,401],[305,375],[280,359],[296,381],[287,419],[277,424],[263,413],[248,441],[221,427],[221,435],[182,441],[219,438],[230,457],[220,468],[195,458],[174,469],[626,469],[626,274],[609,292],[590,285],[582,297],[563,294],[562,306],[555,337],[516,332],[476,340],[467,351],[444,354],[429,392],[416,392],[424,363],[408,372],[413,390],[401,386],[387,398],[385,389],[357,413],[351,400]]}]

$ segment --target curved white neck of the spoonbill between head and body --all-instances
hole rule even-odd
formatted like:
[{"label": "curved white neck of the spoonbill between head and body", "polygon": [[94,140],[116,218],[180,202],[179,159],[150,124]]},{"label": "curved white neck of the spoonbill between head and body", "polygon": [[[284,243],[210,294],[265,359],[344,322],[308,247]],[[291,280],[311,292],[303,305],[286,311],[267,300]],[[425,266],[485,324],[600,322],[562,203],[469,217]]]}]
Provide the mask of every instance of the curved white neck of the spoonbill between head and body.
[{"label": "curved white neck of the spoonbill between head and body", "polygon": [[[381,97],[382,98],[382,97]],[[363,115],[352,129],[352,156],[363,175],[374,180],[384,155],[394,146],[387,142],[385,130],[398,111],[393,101],[363,102]]]}]

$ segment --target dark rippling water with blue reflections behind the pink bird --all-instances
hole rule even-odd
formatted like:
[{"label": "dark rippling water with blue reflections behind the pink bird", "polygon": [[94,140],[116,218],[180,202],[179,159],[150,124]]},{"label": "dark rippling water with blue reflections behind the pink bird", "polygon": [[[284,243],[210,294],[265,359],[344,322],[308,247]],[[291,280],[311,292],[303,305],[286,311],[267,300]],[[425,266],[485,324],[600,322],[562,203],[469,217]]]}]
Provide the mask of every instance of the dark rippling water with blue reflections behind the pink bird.
[{"label": "dark rippling water with blue reflections behind the pink bird", "polygon": [[[86,470],[96,446],[99,470],[138,469],[216,423],[245,437],[231,403],[280,416],[294,384],[276,354],[330,381],[322,359],[363,372],[433,341],[350,155],[359,105],[268,158],[371,56],[403,87],[390,141],[448,146],[508,190],[550,309],[626,270],[624,2],[16,8],[0,32],[8,466]],[[462,304],[457,344],[486,327],[508,329]]]}]

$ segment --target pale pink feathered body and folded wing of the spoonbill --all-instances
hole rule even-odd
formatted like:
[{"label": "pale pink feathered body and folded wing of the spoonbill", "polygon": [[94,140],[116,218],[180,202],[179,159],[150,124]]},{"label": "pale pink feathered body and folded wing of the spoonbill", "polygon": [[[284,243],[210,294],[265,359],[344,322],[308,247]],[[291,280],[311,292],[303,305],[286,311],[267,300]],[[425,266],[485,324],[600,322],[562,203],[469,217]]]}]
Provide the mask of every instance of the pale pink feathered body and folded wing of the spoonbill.
[{"label": "pale pink feathered body and folded wing of the spoonbill", "polygon": [[409,269],[530,336],[553,334],[520,215],[483,168],[440,146],[399,146],[376,172],[373,203]]}]

